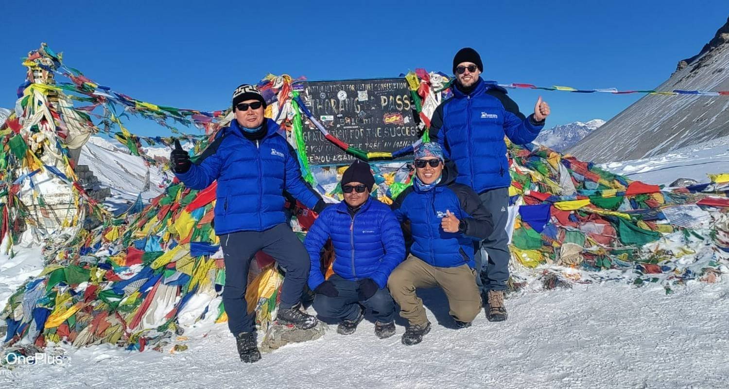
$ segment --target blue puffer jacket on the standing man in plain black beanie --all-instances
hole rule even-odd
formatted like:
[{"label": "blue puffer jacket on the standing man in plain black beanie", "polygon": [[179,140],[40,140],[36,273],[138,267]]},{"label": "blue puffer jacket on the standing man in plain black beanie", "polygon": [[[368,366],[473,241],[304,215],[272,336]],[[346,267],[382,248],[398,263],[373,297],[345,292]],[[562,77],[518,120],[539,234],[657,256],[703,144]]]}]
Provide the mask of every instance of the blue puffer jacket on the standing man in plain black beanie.
[{"label": "blue puffer jacket on the standing man in plain black beanie", "polygon": [[511,185],[504,135],[526,145],[543,126],[534,115],[525,118],[504,88],[479,78],[468,95],[453,87],[453,97],[435,110],[429,134],[456,163],[456,181],[482,193]]}]

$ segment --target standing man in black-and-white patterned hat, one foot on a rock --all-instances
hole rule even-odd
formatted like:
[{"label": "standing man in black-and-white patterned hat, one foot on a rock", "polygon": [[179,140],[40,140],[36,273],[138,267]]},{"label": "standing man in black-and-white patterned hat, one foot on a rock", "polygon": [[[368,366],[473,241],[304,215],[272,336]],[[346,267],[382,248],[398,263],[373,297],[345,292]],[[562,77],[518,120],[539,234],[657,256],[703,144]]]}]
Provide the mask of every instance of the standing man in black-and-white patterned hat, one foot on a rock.
[{"label": "standing man in black-and-white patterned hat, one foot on a rock", "polygon": [[309,256],[287,225],[284,193],[321,212],[325,204],[301,179],[295,151],[278,134],[278,125],[263,116],[265,99],[253,85],[233,92],[235,120],[192,163],[176,141],[172,170],[188,188],[204,189],[217,180],[214,228],[225,261],[223,304],[228,328],[243,362],[261,358],[256,343],[254,312],[248,312],[248,269],[259,251],[276,258],[286,270],[276,320],[298,328],[316,326],[316,317],[300,310],[309,272]]}]

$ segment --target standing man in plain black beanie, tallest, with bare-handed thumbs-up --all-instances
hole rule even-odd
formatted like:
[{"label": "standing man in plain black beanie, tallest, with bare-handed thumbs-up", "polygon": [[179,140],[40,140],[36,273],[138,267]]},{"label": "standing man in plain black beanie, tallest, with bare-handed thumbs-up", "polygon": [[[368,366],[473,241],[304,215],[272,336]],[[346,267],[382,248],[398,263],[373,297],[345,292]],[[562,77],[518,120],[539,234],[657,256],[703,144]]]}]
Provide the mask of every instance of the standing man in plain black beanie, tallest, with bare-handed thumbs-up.
[{"label": "standing man in plain black beanie, tallest, with bare-handed thumbs-up", "polygon": [[[464,47],[453,58],[453,97],[435,110],[429,134],[458,167],[456,179],[478,193],[483,207],[491,214],[494,231],[480,242],[476,252],[477,278],[481,293],[486,293],[489,321],[507,319],[504,290],[509,280],[509,161],[504,136],[517,145],[534,141],[545,125],[550,107],[537,99],[534,114],[525,117],[506,90],[481,80],[481,57]],[[483,263],[483,253],[488,263]]]}]

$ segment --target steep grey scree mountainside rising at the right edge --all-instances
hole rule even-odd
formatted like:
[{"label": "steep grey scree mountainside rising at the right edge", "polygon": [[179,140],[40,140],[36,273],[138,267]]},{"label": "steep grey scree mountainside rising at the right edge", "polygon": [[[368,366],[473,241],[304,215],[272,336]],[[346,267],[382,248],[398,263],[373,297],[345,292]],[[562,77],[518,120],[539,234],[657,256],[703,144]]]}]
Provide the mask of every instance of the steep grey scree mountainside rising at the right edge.
[{"label": "steep grey scree mountainside rising at the right edge", "polygon": [[[727,90],[729,20],[701,51],[653,89]],[[729,136],[726,96],[647,94],[567,150],[582,161],[607,163],[652,158]]]}]

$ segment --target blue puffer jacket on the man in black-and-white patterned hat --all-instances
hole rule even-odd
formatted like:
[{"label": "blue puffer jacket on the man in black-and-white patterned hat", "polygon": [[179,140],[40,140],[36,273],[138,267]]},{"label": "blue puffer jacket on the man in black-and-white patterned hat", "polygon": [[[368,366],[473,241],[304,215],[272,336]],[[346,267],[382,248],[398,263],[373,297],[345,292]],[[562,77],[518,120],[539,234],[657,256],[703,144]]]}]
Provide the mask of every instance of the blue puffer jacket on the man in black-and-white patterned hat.
[{"label": "blue puffer jacket on the man in black-and-white patterned hat", "polygon": [[306,207],[321,201],[301,178],[295,151],[278,134],[278,124],[266,119],[268,131],[260,141],[246,139],[233,120],[190,170],[176,177],[192,189],[218,181],[215,194],[215,233],[264,231],[286,223],[284,190]]}]

